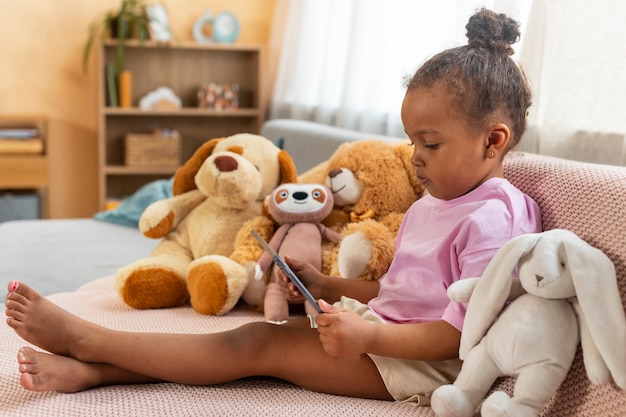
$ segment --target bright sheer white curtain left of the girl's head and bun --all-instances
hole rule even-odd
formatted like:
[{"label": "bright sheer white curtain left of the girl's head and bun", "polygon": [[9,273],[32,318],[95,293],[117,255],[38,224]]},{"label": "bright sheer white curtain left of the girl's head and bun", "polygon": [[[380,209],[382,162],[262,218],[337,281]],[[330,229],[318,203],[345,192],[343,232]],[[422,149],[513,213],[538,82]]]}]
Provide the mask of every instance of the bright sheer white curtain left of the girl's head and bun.
[{"label": "bright sheer white curtain left of the girl's head and bun", "polygon": [[[404,80],[428,57],[466,43],[481,6],[524,24],[528,0],[291,0],[270,118],[404,136]],[[281,3],[278,3],[280,8]],[[515,45],[516,50],[521,43]]]}]

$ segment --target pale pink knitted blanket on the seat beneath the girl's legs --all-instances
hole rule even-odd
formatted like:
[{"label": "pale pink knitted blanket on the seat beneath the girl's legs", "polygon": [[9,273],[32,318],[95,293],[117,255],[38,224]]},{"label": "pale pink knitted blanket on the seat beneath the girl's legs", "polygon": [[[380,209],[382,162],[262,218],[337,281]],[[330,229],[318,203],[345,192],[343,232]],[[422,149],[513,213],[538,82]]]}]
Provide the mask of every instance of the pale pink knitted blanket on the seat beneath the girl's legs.
[{"label": "pale pink knitted blanket on the seat beneath the girl's legs", "polygon": [[[263,320],[262,314],[245,307],[237,307],[222,317],[203,316],[191,307],[134,310],[119,299],[112,277],[49,298],[90,321],[128,331],[206,333]],[[17,371],[16,353],[24,345],[8,326],[0,326],[0,415],[3,417],[432,415],[429,408],[318,394],[262,378],[213,387],[164,383],[103,387],[77,394],[29,392],[19,385]]]}]

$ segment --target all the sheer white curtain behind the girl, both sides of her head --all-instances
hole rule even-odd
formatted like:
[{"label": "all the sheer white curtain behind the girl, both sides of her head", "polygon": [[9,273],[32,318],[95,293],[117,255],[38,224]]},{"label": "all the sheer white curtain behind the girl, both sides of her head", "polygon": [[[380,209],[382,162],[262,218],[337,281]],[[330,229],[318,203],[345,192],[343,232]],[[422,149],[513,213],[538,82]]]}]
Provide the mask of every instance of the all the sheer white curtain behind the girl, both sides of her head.
[{"label": "all the sheer white curtain behind the girl, both sides of her head", "polygon": [[[277,0],[270,117],[404,136],[404,77],[464,44],[485,6],[521,22],[534,99],[524,150],[626,165],[626,1]],[[284,22],[284,26],[280,24]]]}]

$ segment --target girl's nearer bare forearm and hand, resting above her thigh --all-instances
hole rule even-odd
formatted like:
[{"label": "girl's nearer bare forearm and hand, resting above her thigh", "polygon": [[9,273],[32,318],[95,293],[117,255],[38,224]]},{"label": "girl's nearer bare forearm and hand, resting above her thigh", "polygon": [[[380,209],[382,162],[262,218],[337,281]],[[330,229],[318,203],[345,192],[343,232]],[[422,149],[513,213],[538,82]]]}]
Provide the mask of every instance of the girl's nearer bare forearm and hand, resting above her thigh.
[{"label": "girl's nearer bare forearm and hand, resting above her thigh", "polygon": [[317,330],[333,356],[372,353],[403,359],[439,361],[459,357],[461,332],[440,320],[416,324],[375,324],[356,313],[320,302]]}]

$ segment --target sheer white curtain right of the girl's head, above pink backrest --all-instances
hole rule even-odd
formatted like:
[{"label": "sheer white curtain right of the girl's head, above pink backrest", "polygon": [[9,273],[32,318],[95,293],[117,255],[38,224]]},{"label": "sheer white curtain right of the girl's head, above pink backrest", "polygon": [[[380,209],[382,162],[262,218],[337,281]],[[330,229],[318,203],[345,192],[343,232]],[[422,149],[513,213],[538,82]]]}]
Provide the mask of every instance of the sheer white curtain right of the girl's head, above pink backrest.
[{"label": "sheer white curtain right of the girl's head, above pink backrest", "polygon": [[626,2],[535,0],[520,60],[530,151],[626,165]]}]

